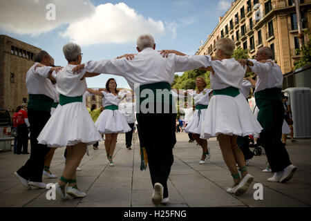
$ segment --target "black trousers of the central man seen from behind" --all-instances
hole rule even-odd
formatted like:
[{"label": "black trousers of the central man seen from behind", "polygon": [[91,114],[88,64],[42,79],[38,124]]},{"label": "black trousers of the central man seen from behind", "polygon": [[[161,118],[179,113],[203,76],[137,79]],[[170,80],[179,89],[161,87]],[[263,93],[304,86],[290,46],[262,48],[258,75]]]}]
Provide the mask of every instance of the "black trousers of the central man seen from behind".
[{"label": "black trousers of the central man seen from behind", "polygon": [[167,198],[167,179],[173,164],[173,146],[176,144],[176,114],[138,113],[138,130],[141,133],[140,143],[147,151],[152,185],[156,182],[162,184],[163,198]]}]

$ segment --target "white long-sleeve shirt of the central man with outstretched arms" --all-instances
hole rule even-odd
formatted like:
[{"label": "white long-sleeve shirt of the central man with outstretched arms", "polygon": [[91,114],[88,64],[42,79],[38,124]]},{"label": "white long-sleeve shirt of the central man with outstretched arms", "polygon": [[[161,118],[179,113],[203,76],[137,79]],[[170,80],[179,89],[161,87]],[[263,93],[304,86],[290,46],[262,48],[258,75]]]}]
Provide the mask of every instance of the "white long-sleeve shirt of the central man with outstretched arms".
[{"label": "white long-sleeve shirt of the central man with outstretched arms", "polygon": [[84,70],[89,73],[106,73],[120,75],[126,79],[132,90],[134,84],[144,85],[158,82],[171,84],[174,73],[210,66],[209,55],[178,56],[169,54],[167,58],[162,57],[160,52],[153,48],[144,48],[132,60],[113,59],[88,61]]}]

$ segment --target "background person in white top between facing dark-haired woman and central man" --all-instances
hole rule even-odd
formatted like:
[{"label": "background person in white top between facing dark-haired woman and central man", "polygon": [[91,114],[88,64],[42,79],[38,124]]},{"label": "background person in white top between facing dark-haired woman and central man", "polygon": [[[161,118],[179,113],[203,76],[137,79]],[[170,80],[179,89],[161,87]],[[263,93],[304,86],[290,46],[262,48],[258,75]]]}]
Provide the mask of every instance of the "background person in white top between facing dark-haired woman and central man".
[{"label": "background person in white top between facing dark-haired woman and central man", "polygon": [[136,121],[135,104],[132,102],[132,94],[131,93],[127,94],[124,103],[119,104],[119,109],[120,109],[121,113],[125,116],[126,122],[127,122],[127,124],[129,124],[129,127],[131,128],[131,131],[125,133],[126,148],[131,150],[134,124]]}]

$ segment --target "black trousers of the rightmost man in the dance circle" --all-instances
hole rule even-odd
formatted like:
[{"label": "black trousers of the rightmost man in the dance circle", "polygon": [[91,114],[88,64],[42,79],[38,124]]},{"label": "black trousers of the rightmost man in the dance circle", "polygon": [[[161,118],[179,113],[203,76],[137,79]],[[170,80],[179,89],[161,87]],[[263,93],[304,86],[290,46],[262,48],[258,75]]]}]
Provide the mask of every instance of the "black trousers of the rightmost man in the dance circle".
[{"label": "black trousers of the rightmost man in the dance circle", "polygon": [[266,110],[260,113],[261,109],[259,108],[258,115],[263,114],[267,116],[267,119],[270,119],[269,124],[267,124],[268,126],[263,129],[260,137],[272,172],[276,173],[283,171],[285,167],[291,164],[285,144],[281,142],[284,108],[281,102],[276,102],[270,104],[270,108]]}]

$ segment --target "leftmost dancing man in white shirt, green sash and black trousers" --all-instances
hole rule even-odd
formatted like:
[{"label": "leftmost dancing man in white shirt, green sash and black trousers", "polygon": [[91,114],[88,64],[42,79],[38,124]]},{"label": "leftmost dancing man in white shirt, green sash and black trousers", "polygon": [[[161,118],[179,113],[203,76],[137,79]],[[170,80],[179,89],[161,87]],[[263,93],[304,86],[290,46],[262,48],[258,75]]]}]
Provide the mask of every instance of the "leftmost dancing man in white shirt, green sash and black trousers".
[{"label": "leftmost dancing man in white shirt, green sash and black trousers", "polygon": [[[38,64],[44,65],[37,67]],[[31,189],[30,186],[46,189],[42,182],[42,171],[44,170],[44,157],[50,148],[38,144],[37,137],[50,118],[50,108],[54,103],[54,89],[49,78],[54,70],[60,67],[50,66],[50,55],[41,50],[35,56],[35,64],[30,67],[26,74],[26,87],[29,95],[28,119],[30,123],[30,159],[22,166],[15,175],[18,180]]]}]

